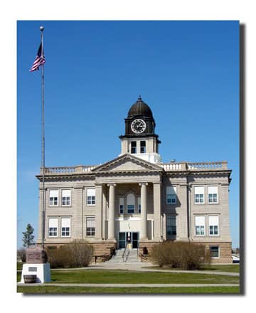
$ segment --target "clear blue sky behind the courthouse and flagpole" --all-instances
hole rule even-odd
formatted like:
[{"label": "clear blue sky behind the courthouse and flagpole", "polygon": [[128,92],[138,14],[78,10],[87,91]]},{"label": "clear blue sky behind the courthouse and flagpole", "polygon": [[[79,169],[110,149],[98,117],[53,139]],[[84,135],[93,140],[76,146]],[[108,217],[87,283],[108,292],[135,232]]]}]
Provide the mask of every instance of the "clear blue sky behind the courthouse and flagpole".
[{"label": "clear blue sky behind the courthouse and flagpole", "polygon": [[124,117],[149,104],[163,161],[227,160],[233,247],[239,245],[238,21],[18,21],[17,243],[38,228],[45,26],[46,166],[100,164],[120,152]]}]

